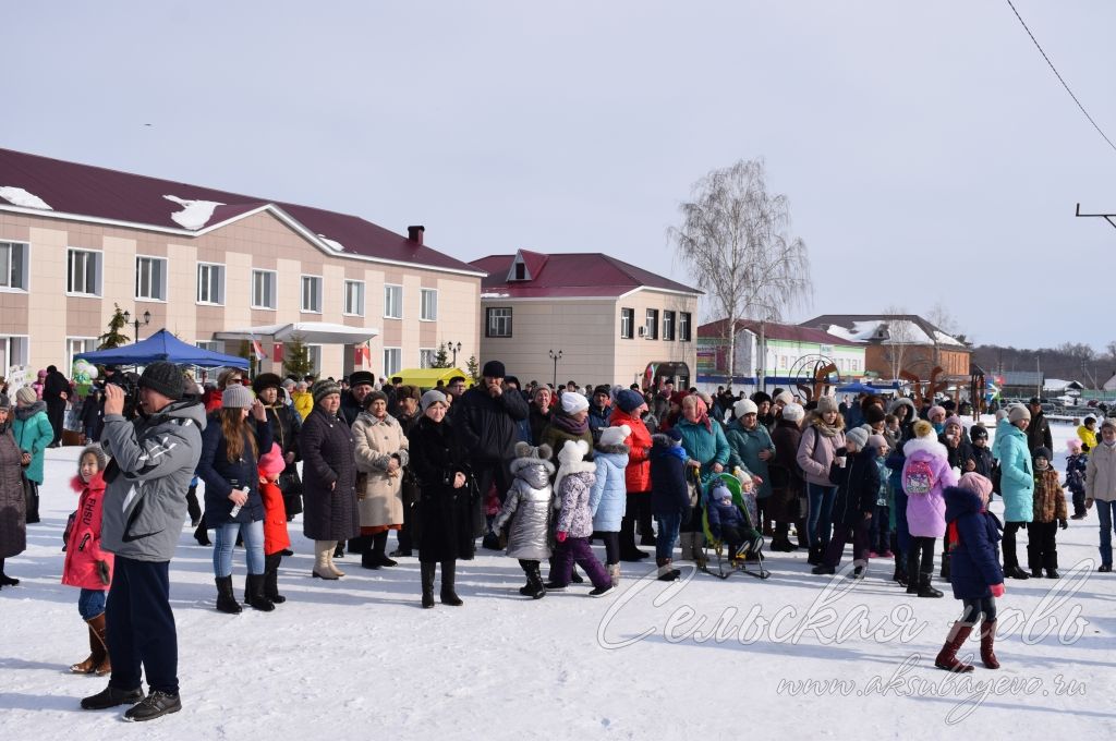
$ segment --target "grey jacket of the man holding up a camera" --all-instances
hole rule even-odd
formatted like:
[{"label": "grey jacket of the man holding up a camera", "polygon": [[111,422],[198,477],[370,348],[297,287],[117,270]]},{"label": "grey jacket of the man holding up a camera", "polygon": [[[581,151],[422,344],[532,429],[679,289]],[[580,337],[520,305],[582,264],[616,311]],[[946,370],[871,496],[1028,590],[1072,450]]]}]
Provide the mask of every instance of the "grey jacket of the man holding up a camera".
[{"label": "grey jacket of the man holding up a camera", "polygon": [[[205,407],[172,402],[134,422],[105,415],[102,548],[137,561],[169,561],[186,519],[186,490],[202,455]],[[253,472],[254,478],[254,472]]]}]

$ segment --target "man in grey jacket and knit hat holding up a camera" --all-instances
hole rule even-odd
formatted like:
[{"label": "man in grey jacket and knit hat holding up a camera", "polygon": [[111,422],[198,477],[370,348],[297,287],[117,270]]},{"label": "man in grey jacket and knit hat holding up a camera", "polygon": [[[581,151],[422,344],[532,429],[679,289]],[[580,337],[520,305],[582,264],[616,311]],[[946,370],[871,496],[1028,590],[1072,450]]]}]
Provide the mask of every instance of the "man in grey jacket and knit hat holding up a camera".
[{"label": "man in grey jacket and knit hat holding up a camera", "polygon": [[[182,709],[179,642],[170,603],[170,564],[186,516],[186,490],[202,451],[205,410],[185,394],[173,363],[148,365],[140,377],[141,415],[123,416],[125,392],[105,387],[100,444],[105,470],[102,546],[116,555],[105,618],[113,673],[108,686],[81,700],[85,710],[134,705],[127,720]],[[144,696],[141,667],[151,694]]]}]

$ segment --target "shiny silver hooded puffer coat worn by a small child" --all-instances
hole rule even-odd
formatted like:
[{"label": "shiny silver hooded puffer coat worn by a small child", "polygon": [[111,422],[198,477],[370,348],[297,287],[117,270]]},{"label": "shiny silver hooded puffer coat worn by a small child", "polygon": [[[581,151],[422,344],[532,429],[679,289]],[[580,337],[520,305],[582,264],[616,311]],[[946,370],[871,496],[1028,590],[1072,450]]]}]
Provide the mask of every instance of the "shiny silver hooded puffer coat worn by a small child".
[{"label": "shiny silver hooded puffer coat worn by a small child", "polygon": [[[517,458],[511,462],[516,478],[503,500],[503,508],[492,522],[492,529],[508,531],[508,556],[541,561],[550,558],[551,500],[550,477],[554,463],[537,455]],[[512,517],[514,516],[514,518]]]}]

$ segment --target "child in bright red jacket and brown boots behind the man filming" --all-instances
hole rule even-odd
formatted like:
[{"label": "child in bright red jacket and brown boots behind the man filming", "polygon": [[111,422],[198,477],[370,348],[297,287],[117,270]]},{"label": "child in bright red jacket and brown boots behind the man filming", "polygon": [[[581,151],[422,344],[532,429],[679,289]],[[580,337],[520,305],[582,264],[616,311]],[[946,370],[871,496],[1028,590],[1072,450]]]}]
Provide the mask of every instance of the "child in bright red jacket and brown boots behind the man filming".
[{"label": "child in bright red jacket and brown boots behind the man filming", "polygon": [[80,492],[74,521],[66,536],[62,584],[80,587],[77,609],[89,626],[89,656],[70,665],[74,674],[104,676],[113,671],[105,639],[105,595],[113,580],[113,555],[100,549],[100,508],[105,493],[105,452],[89,445],[77,459],[77,475],[70,482]]}]

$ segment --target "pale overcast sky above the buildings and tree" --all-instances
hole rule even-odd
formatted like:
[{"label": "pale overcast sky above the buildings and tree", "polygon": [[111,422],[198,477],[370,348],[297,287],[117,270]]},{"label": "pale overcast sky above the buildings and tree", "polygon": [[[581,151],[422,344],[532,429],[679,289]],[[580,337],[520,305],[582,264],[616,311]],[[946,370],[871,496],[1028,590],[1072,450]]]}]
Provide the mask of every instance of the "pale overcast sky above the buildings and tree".
[{"label": "pale overcast sky above the buildings and tree", "polygon": [[[792,319],[1116,339],[1116,229],[1074,216],[1116,212],[1116,151],[1006,1],[543,6],[11,3],[0,146],[684,282],[679,203],[763,157],[812,263]],[[1016,7],[1116,141],[1116,3]]]}]

